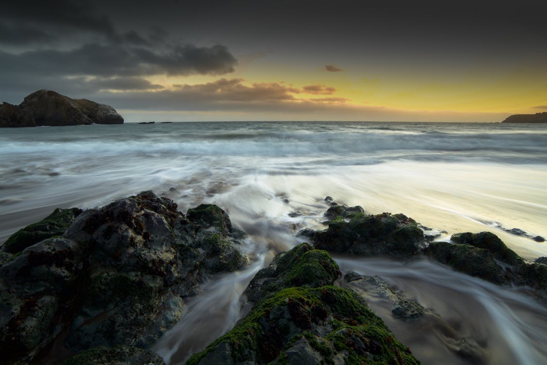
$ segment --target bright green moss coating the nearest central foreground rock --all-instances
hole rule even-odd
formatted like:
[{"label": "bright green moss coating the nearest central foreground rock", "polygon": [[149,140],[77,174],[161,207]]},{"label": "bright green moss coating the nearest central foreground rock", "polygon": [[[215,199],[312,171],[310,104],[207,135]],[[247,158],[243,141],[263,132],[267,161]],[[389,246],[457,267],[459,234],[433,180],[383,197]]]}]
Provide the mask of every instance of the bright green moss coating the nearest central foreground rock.
[{"label": "bright green moss coating the nearest central foreground rock", "polygon": [[[332,356],[340,351],[348,351],[346,361],[363,362],[368,357],[363,357],[362,351],[374,354],[375,361],[367,363],[419,363],[389,332],[383,321],[373,314],[370,309],[357,299],[357,294],[346,289],[334,286],[320,288],[291,287],[283,289],[269,299],[255,305],[253,310],[223,337],[218,338],[206,350],[193,355],[187,364],[197,364],[200,360],[220,343],[230,346],[232,360],[234,362],[254,361],[263,363],[271,361],[263,357],[261,346],[263,338],[268,333],[277,334],[278,356],[283,356],[296,339],[302,335],[308,339],[313,349],[324,356],[325,362],[330,362]],[[294,308],[298,307],[298,310]],[[327,313],[318,317],[314,315],[313,307],[323,306]],[[332,331],[325,337],[319,337],[314,333],[312,326],[309,329],[299,327],[301,316],[310,315],[311,323],[322,323],[327,318],[334,318]],[[362,323],[356,323],[354,316],[363,319]],[[307,318],[306,318],[307,319]],[[280,323],[292,321],[292,331],[296,333],[284,334],[277,330]],[[328,327],[324,327],[328,328]],[[363,348],[357,348],[353,337],[359,338],[364,344]],[[359,352],[360,351],[360,352]],[[280,358],[283,360],[283,357]]]}]

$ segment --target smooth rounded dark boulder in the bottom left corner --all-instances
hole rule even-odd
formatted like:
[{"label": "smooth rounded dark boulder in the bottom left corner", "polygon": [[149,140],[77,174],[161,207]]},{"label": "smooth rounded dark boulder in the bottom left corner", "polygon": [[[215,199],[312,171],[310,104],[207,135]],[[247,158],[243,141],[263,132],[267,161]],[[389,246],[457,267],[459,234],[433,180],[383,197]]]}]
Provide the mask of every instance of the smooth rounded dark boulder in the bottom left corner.
[{"label": "smooth rounded dark boulder in the bottom left corner", "polygon": [[0,268],[5,363],[27,363],[66,327],[62,314],[71,311],[78,294],[83,257],[83,245],[57,237],[26,248]]}]

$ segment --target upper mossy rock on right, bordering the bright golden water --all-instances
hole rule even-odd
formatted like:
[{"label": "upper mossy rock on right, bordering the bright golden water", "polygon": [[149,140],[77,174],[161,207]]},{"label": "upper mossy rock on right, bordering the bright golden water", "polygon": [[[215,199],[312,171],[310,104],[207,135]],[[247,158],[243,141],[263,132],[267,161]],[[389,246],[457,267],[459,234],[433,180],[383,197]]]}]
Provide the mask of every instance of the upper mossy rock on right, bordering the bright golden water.
[{"label": "upper mossy rock on right, bordering the bright golden water", "polygon": [[519,255],[517,255],[509,247],[505,246],[503,241],[491,232],[457,233],[453,234],[450,239],[457,244],[484,248],[485,250],[488,250],[495,259],[503,261],[509,265],[520,265],[523,263],[523,260]]}]

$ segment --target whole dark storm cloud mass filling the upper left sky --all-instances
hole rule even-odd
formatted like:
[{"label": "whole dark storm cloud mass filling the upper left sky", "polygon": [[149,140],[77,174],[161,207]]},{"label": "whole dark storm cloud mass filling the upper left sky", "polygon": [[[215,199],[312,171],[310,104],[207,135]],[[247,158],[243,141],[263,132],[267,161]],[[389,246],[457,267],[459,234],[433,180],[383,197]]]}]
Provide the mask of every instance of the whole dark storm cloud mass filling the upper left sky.
[{"label": "whole dark storm cloud mass filling the upper left sky", "polygon": [[224,45],[198,47],[176,42],[157,26],[147,26],[144,33],[119,31],[108,16],[97,11],[101,7],[91,4],[53,0],[2,6],[0,44],[10,48],[0,51],[4,88],[0,96],[8,94],[9,86],[16,94],[29,84],[28,79],[34,86],[27,93],[51,86],[60,91],[95,92],[105,87],[97,80],[123,81],[127,90],[150,89],[157,85],[144,83],[143,76],[220,75],[233,72],[237,65]]}]

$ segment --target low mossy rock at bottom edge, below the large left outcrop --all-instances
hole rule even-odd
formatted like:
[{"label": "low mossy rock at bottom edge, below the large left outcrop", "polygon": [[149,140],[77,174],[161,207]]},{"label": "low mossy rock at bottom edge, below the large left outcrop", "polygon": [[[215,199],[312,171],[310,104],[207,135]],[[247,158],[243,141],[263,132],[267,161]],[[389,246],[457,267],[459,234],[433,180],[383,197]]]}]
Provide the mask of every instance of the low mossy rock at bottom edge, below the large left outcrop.
[{"label": "low mossy rock at bottom edge, below the large left outcrop", "polygon": [[153,352],[138,347],[118,345],[93,347],[69,358],[62,365],[165,365],[164,360]]}]

